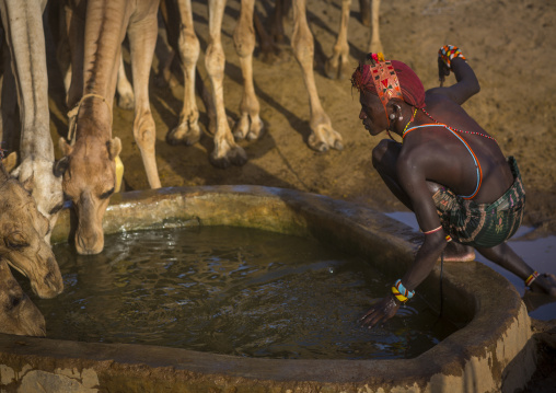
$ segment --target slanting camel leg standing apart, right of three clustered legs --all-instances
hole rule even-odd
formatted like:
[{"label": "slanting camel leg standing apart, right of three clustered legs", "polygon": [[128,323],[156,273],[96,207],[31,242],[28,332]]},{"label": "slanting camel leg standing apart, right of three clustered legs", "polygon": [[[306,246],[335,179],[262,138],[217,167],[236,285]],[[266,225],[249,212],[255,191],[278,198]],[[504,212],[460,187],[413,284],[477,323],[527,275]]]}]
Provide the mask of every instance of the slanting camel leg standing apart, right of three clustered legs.
[{"label": "slanting camel leg standing apart, right of three clustered legs", "polygon": [[292,5],[293,34],[291,43],[293,54],[303,73],[311,107],[309,146],[320,152],[325,152],[329,148],[341,150],[344,148],[341,136],[332,128],[331,119],[324,112],[316,91],[313,72],[314,42],[306,23],[306,0],[294,1]]}]

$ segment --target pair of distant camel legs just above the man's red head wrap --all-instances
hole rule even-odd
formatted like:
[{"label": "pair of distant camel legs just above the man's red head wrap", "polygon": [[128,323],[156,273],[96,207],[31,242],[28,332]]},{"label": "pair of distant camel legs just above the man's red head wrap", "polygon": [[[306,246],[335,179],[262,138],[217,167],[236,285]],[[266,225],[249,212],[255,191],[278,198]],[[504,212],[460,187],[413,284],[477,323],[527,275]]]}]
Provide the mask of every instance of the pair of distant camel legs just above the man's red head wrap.
[{"label": "pair of distant camel legs just above the man's red head wrap", "polygon": [[[361,18],[363,23],[366,21],[367,15],[369,15],[369,1],[370,0],[359,0]],[[348,24],[349,24],[349,13],[351,8],[351,0],[341,0],[341,18],[338,30],[338,37],[336,43],[333,46],[333,54],[326,60],[325,71],[328,78],[335,79],[346,79],[351,76],[354,71],[354,66],[349,60],[349,44],[348,44]],[[382,43],[380,41],[380,28],[379,28],[379,11],[380,10],[380,0],[372,0],[372,9],[371,9],[371,39],[369,42],[369,50],[372,53],[383,51]]]}]

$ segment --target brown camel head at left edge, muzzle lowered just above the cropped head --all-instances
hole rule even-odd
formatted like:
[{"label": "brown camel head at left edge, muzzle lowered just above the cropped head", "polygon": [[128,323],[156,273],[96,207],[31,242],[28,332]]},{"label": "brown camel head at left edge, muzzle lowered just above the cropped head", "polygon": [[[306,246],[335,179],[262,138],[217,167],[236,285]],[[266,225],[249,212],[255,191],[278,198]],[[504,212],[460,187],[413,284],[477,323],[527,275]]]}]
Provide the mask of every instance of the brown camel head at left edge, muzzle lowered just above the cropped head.
[{"label": "brown camel head at left edge, muzzle lowered just above the cropped head", "polygon": [[0,164],[0,256],[31,280],[40,298],[63,290],[56,257],[45,241],[48,230],[35,199]]}]

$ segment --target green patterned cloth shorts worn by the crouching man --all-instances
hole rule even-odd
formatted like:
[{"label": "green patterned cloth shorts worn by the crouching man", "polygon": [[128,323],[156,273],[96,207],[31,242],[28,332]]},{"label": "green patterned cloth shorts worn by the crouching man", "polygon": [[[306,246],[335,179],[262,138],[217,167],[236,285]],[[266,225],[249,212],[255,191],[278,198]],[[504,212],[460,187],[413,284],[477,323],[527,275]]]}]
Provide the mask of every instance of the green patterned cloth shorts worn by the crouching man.
[{"label": "green patterned cloth shorts worn by the crouching man", "polygon": [[489,248],[510,239],[523,220],[525,189],[518,163],[508,159],[513,174],[512,186],[493,204],[463,199],[448,188],[438,190],[432,199],[445,233],[459,243]]}]

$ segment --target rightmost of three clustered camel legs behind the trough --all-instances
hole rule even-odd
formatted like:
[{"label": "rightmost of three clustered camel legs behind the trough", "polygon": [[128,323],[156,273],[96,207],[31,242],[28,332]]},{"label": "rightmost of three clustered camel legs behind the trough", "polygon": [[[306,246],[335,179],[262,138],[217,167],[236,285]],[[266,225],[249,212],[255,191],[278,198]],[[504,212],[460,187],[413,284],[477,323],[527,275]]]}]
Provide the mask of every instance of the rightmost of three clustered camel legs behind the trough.
[{"label": "rightmost of three clustered camel legs behind the trough", "polygon": [[253,50],[255,49],[255,30],[253,10],[255,0],[242,0],[240,21],[233,32],[235,51],[240,56],[243,74],[243,96],[240,104],[240,120],[235,124],[235,139],[257,139],[263,131],[263,120],[258,115],[260,106],[253,83]]}]

